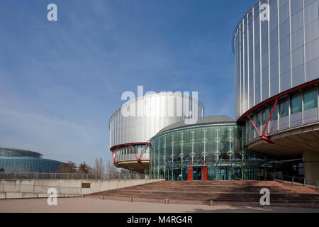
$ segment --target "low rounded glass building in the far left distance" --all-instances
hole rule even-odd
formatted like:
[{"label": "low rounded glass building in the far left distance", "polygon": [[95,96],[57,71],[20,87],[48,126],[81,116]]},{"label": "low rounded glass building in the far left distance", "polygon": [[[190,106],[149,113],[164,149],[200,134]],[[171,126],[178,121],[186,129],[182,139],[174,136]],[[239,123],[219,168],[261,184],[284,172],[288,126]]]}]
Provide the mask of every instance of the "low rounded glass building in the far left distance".
[{"label": "low rounded glass building in the far left distance", "polygon": [[0,148],[0,172],[55,172],[61,164],[30,150]]}]

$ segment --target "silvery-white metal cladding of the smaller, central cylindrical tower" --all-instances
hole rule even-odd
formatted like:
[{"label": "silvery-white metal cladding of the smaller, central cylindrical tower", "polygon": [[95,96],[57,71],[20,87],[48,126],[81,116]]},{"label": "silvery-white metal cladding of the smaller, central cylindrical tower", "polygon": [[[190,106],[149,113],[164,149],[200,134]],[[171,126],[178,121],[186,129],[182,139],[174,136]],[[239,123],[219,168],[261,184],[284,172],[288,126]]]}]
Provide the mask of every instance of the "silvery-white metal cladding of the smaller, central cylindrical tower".
[{"label": "silvery-white metal cladding of the smaller, central cylindrical tower", "polygon": [[[183,121],[186,116],[177,108],[183,106],[181,98],[198,106],[198,117],[203,116],[203,106],[191,96],[178,93],[158,93],[142,96],[124,104],[110,120],[110,148],[126,143],[145,143],[162,128]],[[181,101],[181,103],[180,103]],[[134,108],[136,116],[123,116],[122,109]],[[192,106],[191,106],[192,107]],[[192,109],[192,108],[190,108]]]}]

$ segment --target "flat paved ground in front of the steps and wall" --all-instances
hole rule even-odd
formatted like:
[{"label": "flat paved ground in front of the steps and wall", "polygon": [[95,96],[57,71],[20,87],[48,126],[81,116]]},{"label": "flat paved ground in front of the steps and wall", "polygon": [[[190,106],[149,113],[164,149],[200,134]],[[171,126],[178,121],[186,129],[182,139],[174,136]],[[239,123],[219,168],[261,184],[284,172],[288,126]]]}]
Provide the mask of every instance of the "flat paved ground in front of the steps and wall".
[{"label": "flat paved ground in front of the steps and wall", "polygon": [[47,199],[0,199],[0,213],[213,213],[213,212],[298,212],[319,213],[319,209],[295,207],[204,206],[111,201],[94,198],[57,199],[57,206],[48,206]]}]

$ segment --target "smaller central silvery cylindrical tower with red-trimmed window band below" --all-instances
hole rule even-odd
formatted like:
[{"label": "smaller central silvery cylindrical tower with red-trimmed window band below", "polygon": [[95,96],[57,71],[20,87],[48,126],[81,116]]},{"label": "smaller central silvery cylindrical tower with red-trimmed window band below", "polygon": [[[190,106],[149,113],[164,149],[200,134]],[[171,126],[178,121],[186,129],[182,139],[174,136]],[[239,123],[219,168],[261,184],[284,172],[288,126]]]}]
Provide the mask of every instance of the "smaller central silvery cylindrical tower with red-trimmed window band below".
[{"label": "smaller central silvery cylindrical tower with red-trimmed window band below", "polygon": [[124,104],[111,117],[110,150],[114,164],[128,170],[147,172],[150,163],[148,141],[162,128],[191,118],[186,110],[203,116],[203,106],[181,93],[142,96]]}]

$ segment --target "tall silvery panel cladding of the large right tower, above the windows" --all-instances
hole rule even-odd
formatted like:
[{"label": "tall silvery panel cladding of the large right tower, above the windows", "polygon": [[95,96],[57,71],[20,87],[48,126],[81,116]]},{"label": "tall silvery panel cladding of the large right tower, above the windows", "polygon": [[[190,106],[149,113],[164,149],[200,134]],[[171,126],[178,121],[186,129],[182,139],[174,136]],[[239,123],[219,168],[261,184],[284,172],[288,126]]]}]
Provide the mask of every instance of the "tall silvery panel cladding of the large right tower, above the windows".
[{"label": "tall silvery panel cladding of the large right tower, above the windows", "polygon": [[[259,19],[269,4],[270,21]],[[236,118],[262,101],[319,78],[318,0],[262,0],[234,33]]]}]

